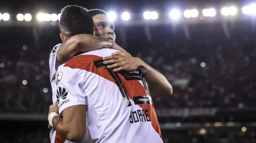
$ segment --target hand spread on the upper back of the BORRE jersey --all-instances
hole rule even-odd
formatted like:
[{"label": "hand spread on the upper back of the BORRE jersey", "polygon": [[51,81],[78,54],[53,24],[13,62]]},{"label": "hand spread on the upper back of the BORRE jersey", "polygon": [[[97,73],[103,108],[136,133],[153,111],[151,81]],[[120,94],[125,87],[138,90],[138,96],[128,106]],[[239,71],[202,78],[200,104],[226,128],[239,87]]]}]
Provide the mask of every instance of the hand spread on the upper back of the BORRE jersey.
[{"label": "hand spread on the upper back of the BORRE jersey", "polygon": [[142,60],[132,57],[129,53],[115,52],[111,56],[104,57],[104,64],[109,64],[108,69],[113,69],[114,72],[119,71],[136,71],[142,65]]}]

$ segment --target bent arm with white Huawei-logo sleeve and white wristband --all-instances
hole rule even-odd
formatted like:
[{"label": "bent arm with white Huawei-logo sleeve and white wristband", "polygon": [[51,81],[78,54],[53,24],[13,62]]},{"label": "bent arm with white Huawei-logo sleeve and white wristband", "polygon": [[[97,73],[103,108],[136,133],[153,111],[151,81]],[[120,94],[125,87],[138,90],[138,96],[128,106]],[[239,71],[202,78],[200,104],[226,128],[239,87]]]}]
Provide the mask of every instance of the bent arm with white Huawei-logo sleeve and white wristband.
[{"label": "bent arm with white Huawei-logo sleeve and white wristband", "polygon": [[[53,113],[49,114],[49,124],[64,139],[80,142],[86,135],[86,97],[83,92],[83,78],[79,71],[60,67],[57,75],[57,101]],[[58,78],[58,77],[56,77]],[[62,118],[58,115],[60,113]]]}]

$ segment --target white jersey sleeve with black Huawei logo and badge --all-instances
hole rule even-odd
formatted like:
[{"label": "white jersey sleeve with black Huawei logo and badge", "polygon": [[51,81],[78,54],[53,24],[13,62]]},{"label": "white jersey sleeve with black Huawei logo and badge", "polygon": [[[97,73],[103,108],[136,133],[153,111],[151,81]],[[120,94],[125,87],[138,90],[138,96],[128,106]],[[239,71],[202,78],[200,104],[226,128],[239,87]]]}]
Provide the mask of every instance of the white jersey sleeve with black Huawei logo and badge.
[{"label": "white jersey sleeve with black Huawei logo and badge", "polygon": [[86,105],[83,78],[79,69],[60,66],[56,73],[56,99],[59,113],[68,107]]}]

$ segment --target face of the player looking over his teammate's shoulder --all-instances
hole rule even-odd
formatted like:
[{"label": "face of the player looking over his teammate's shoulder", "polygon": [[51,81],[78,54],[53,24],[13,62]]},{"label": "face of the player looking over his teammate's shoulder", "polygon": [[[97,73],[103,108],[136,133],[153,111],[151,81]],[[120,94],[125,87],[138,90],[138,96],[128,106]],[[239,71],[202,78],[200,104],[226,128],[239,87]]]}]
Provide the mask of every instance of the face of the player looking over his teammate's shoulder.
[{"label": "face of the player looking over his teammate's shoulder", "polygon": [[98,36],[115,41],[114,24],[107,15],[99,14],[92,19],[98,29]]}]

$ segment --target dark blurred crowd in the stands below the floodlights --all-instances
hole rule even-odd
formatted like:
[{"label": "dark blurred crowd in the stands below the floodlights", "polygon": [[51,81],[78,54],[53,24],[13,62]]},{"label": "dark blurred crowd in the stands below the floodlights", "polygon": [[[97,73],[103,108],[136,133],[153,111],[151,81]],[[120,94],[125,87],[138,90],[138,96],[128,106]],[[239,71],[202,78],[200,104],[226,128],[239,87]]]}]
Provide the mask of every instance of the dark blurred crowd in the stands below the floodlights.
[{"label": "dark blurred crowd in the stands below the floodlights", "polygon": [[[60,43],[58,29],[6,31],[0,31],[6,33],[2,39],[7,39],[2,42],[0,52],[0,112],[47,113],[52,104],[49,55],[53,46]],[[153,31],[152,41],[144,38],[143,44],[134,41],[126,46],[133,56],[164,74],[173,86],[172,97],[153,98],[156,108],[255,106],[256,43],[253,38],[240,36],[218,41],[201,38],[203,35],[190,40],[181,36],[179,40],[172,38],[177,40],[175,43],[168,41],[171,37],[158,40],[161,32],[161,29],[158,33]],[[219,38],[226,39],[224,35]]]}]

